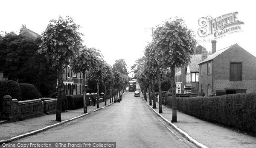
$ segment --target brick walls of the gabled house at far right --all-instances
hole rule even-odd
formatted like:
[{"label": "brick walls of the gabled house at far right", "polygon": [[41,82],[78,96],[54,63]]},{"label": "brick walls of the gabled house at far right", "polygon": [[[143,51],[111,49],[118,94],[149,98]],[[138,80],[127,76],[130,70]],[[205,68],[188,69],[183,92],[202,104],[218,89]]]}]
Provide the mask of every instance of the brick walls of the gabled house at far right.
[{"label": "brick walls of the gabled house at far right", "polygon": [[[200,90],[203,84],[204,92],[207,92],[209,84],[212,92],[225,89],[247,89],[246,92],[256,92],[256,57],[239,45],[233,45],[210,62],[212,75],[207,75],[207,63],[201,64],[204,76],[199,73]],[[242,81],[230,81],[230,62],[242,63]]]}]

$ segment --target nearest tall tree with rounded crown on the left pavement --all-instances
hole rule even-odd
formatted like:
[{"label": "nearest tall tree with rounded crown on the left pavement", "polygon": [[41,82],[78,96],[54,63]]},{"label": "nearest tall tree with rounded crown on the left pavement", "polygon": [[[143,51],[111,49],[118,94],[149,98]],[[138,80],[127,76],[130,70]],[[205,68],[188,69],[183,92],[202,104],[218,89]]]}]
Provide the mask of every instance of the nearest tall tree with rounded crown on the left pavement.
[{"label": "nearest tall tree with rounded crown on the left pavement", "polygon": [[67,16],[65,19],[50,20],[43,33],[39,53],[44,54],[48,61],[52,62],[58,73],[58,100],[56,110],[56,121],[61,121],[61,104],[63,99],[63,71],[70,61],[79,54],[82,49],[80,26],[76,25],[73,18]]}]

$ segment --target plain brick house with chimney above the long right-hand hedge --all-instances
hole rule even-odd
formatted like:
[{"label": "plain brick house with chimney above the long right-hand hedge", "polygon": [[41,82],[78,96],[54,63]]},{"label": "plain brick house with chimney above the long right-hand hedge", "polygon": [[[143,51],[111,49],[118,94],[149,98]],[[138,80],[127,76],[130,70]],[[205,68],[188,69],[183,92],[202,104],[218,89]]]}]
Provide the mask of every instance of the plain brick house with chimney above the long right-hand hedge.
[{"label": "plain brick house with chimney above the long right-hand hedge", "polygon": [[255,63],[256,57],[238,44],[218,50],[198,64],[200,92],[205,95],[256,92]]}]

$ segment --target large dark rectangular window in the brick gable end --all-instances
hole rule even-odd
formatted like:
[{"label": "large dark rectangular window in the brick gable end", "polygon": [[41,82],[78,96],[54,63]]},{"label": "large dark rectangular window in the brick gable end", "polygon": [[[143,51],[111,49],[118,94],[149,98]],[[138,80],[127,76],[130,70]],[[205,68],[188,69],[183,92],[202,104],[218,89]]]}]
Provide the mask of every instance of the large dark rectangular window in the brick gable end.
[{"label": "large dark rectangular window in the brick gable end", "polygon": [[230,63],[230,81],[242,81],[242,63]]}]

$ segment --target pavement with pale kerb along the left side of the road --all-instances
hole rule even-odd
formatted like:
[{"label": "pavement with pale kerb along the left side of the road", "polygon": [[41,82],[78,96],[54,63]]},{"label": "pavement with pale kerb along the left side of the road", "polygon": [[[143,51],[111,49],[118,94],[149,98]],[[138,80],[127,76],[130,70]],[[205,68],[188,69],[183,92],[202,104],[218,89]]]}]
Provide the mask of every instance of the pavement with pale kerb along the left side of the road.
[{"label": "pavement with pale kerb along the left side of the road", "polygon": [[[112,100],[111,100],[112,102]],[[107,106],[111,105],[110,100],[107,99]],[[87,114],[96,112],[99,109],[106,107],[105,102],[99,103],[99,108],[96,106],[87,106]],[[55,121],[56,114],[45,114],[40,117],[30,118],[23,121],[2,123],[0,124],[0,144],[11,142],[23,137],[30,136],[32,134],[45,131],[47,129],[59,126],[69,121],[75,120],[79,117],[83,117],[84,108],[69,110],[61,113],[61,121]]]}]

